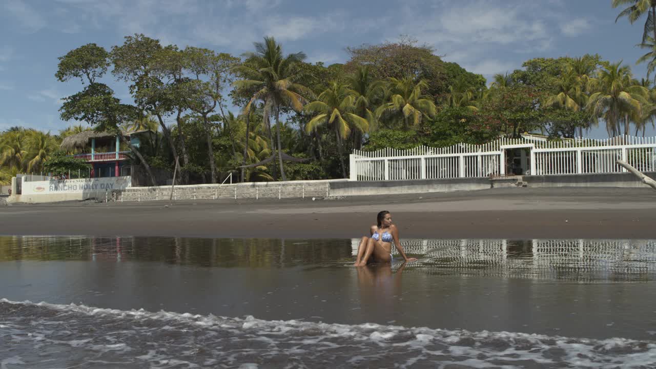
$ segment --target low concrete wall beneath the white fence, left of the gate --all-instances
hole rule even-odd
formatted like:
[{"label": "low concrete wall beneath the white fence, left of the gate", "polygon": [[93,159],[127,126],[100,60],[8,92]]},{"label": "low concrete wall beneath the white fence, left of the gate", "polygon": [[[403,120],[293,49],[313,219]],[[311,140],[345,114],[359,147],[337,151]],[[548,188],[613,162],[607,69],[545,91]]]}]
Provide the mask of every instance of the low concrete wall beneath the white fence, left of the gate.
[{"label": "low concrete wall beneath the white fence, left of the gate", "polygon": [[411,181],[349,181],[331,183],[331,196],[420,194],[426,192],[471,191],[490,188],[483,178],[415,179]]}]

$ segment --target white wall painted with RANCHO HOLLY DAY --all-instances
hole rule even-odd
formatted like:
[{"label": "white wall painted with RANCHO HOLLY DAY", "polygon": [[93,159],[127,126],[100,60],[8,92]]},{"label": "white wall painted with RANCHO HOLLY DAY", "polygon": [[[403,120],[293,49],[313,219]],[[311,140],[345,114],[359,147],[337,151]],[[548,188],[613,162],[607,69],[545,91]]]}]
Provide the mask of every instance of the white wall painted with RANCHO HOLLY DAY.
[{"label": "white wall painted with RANCHO HOLLY DAY", "polygon": [[125,190],[132,183],[131,177],[81,178],[51,181],[23,182],[23,194],[73,194],[79,192],[104,192]]}]

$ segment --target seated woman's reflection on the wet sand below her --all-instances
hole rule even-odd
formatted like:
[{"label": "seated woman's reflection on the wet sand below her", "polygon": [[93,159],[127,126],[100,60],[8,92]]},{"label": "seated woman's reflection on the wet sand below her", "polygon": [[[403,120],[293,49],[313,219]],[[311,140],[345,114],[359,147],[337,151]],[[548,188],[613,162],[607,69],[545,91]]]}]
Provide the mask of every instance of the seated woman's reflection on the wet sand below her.
[{"label": "seated woman's reflection on the wet sand below her", "polygon": [[405,263],[396,273],[387,263],[357,268],[361,314],[368,322],[379,320],[385,323],[396,319],[394,312],[396,301],[401,296],[401,273],[404,268]]}]

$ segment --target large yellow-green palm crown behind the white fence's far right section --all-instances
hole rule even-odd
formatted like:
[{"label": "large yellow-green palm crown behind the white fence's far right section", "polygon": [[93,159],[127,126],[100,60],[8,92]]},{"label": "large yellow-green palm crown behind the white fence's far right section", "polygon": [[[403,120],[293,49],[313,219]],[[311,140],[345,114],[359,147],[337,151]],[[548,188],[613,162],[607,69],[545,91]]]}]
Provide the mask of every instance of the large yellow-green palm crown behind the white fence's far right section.
[{"label": "large yellow-green palm crown behind the white fence's far right section", "polygon": [[622,62],[608,64],[590,80],[594,93],[590,95],[587,108],[595,116],[603,117],[609,135],[621,132],[621,119],[625,118],[625,134],[628,135],[630,114],[642,115],[642,107],[649,91],[634,84],[631,70],[621,66]]}]

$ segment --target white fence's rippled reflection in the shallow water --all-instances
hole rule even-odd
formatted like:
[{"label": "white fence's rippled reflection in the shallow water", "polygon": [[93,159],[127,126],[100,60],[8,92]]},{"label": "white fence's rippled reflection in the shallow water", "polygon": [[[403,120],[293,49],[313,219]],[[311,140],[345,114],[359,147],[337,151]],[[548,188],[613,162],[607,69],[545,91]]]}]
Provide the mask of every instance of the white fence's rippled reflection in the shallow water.
[{"label": "white fence's rippled reflection in the shallow water", "polygon": [[[353,242],[354,253],[358,242]],[[424,272],[573,280],[656,275],[656,240],[406,239],[401,245],[409,254],[422,255],[413,265]]]}]

